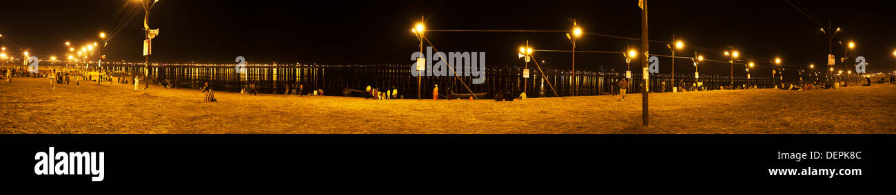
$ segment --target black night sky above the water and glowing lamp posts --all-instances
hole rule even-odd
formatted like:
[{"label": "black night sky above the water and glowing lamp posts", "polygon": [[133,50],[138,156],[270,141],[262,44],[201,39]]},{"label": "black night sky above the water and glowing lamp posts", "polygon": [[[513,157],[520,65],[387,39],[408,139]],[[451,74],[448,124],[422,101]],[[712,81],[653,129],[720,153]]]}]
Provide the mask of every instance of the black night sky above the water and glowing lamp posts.
[{"label": "black night sky above the water and glowing lamp posts", "polygon": [[[863,55],[868,71],[891,72],[896,64],[896,15],[886,1],[650,1],[650,39],[685,41],[677,55],[727,61],[719,52],[737,48],[756,62],[754,75],[771,74],[769,60],[784,59],[790,68],[823,66],[827,38],[817,18],[842,30],[834,38],[839,58],[846,43]],[[112,35],[135,13],[104,50],[109,60],[142,62],[143,11],[135,1],[4,1],[0,7],[0,44],[7,53],[19,47],[41,57],[65,54],[66,40],[75,46],[99,41],[99,31]],[[233,63],[238,55],[250,63],[410,64],[418,40],[410,28],[426,16],[430,30],[571,30],[576,18],[586,32],[640,38],[637,0],[625,1],[199,1],[161,0],[151,11],[152,63]],[[809,16],[806,16],[809,15]],[[564,33],[429,32],[440,51],[486,52],[487,66],[521,66],[517,49],[526,40],[536,49],[570,50]],[[586,36],[577,50],[624,51],[640,42]],[[670,55],[662,43],[650,53]],[[569,69],[569,53],[537,53],[547,68]],[[669,58],[660,58],[668,72]],[[637,62],[634,62],[637,63]],[[633,63],[633,64],[634,64]],[[735,73],[744,72],[735,66]],[[842,65],[838,66],[842,67]],[[619,54],[576,55],[577,70],[625,69]],[[676,61],[676,72],[692,73],[690,60]],[[728,64],[706,63],[701,72],[728,73]],[[767,75],[765,75],[767,76]]]}]

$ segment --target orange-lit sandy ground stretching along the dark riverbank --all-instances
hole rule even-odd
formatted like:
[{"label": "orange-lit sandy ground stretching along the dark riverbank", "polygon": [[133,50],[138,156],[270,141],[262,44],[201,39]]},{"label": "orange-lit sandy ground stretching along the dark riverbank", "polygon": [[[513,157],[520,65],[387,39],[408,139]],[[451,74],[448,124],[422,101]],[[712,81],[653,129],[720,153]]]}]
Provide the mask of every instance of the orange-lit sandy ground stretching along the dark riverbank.
[{"label": "orange-lit sandy ground stretching along the dark riverbank", "polygon": [[493,100],[249,96],[47,79],[0,83],[0,133],[894,133],[896,87]]}]

